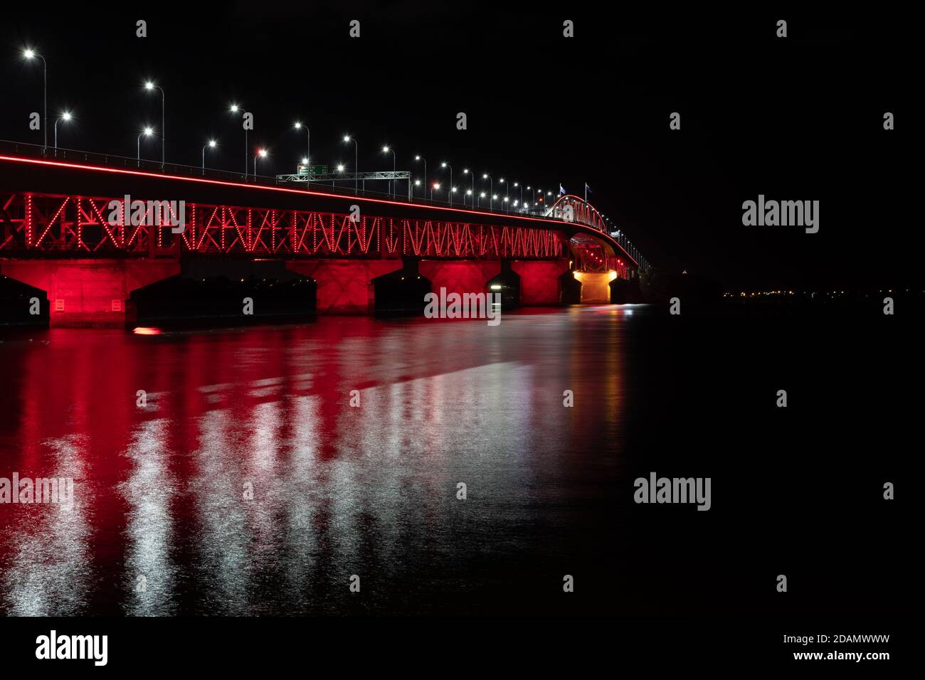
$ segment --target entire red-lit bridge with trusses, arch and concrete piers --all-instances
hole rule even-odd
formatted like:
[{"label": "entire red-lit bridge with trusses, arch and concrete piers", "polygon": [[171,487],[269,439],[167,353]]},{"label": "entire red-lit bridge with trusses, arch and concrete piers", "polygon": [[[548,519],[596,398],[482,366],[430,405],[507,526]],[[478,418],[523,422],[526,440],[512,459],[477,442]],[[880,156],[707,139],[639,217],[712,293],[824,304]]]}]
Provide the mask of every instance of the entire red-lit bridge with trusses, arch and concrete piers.
[{"label": "entire red-lit bridge with trusses, arch and concrete piers", "polygon": [[44,291],[51,326],[131,325],[135,291],[203,261],[281,263],[320,314],[373,312],[402,272],[460,293],[513,280],[529,306],[611,302],[639,273],[578,196],[528,214],[135,164],[0,155],[0,275]]}]

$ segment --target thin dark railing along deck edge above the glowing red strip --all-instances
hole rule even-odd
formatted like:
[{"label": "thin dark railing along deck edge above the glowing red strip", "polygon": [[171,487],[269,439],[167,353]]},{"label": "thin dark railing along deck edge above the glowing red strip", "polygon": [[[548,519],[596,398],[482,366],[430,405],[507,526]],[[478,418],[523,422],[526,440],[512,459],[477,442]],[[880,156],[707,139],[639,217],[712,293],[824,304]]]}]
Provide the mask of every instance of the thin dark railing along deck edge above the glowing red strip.
[{"label": "thin dark railing along deck edge above the glowing red strip", "polygon": [[[117,167],[126,170],[138,170],[148,173],[178,175],[180,177],[218,179],[222,181],[246,182],[256,186],[285,186],[291,189],[302,189],[306,192],[325,192],[340,194],[343,196],[359,196],[361,198],[375,198],[380,200],[397,200],[406,201],[404,196],[396,196],[388,192],[377,192],[369,189],[357,189],[354,191],[352,186],[346,187],[339,184],[353,183],[353,179],[335,180],[328,182],[307,182],[307,181],[284,181],[267,175],[254,175],[242,172],[231,172],[228,170],[218,170],[211,167],[193,167],[184,166],[178,163],[161,163],[160,161],[148,160],[144,158],[129,158],[128,156],[97,154],[92,151],[83,151],[80,149],[66,149],[63,147],[44,147],[42,144],[31,144],[27,142],[14,142],[10,140],[0,140],[0,155],[28,156],[32,158],[43,158],[45,160],[82,163],[100,167]],[[546,208],[536,208],[536,210],[515,209],[509,210],[499,207],[497,204],[465,204],[464,202],[449,201],[440,199],[429,199],[426,196],[416,196],[412,192],[411,203],[422,205],[438,205],[441,207],[459,207],[464,209],[482,210],[499,215],[521,215],[532,217],[544,217]]]}]

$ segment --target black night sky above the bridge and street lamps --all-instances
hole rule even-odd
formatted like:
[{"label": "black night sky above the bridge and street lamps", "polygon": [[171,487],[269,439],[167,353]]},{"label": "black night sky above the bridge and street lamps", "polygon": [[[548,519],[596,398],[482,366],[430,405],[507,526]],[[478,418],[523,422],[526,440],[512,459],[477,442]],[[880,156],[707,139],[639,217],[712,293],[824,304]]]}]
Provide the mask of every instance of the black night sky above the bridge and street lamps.
[{"label": "black night sky above the bridge and street lamps", "polygon": [[[141,8],[43,5],[5,9],[0,25],[0,139],[41,143],[28,129],[42,77],[21,48],[49,65],[49,116],[70,148],[134,156],[138,130],[160,127],[166,91],[167,160],[244,162],[238,102],[254,114],[263,174],[294,168],[312,130],[315,162],[431,176],[448,161],[454,181],[474,167],[544,189],[561,184],[611,217],[648,260],[686,268],[729,289],[879,288],[921,283],[905,106],[919,89],[902,19],[763,9],[648,11],[602,3],[157,4]],[[784,16],[785,15],[785,16]],[[148,37],[135,37],[135,21]],[[348,37],[350,19],[361,38]],[[562,21],[575,37],[561,37]],[[775,37],[777,19],[789,36]],[[890,22],[893,21],[895,25]],[[905,110],[904,110],[905,109]],[[457,112],[468,130],[456,130]],[[669,115],[682,130],[669,130]],[[892,111],[897,129],[882,129]],[[159,155],[156,142],[142,154]],[[438,177],[449,179],[446,175]],[[476,188],[478,186],[476,185]],[[496,192],[498,184],[495,185]],[[819,200],[820,233],[742,225],[759,193]]]}]

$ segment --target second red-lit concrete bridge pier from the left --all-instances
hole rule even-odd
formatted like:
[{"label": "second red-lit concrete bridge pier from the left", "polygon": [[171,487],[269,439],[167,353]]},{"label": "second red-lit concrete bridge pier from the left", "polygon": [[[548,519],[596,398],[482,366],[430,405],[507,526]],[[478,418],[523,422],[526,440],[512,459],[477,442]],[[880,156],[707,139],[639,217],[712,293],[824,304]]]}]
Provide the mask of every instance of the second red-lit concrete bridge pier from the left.
[{"label": "second red-lit concrete bridge pier from the left", "polygon": [[318,314],[373,314],[373,279],[401,269],[401,260],[290,260],[286,268],[314,278]]}]

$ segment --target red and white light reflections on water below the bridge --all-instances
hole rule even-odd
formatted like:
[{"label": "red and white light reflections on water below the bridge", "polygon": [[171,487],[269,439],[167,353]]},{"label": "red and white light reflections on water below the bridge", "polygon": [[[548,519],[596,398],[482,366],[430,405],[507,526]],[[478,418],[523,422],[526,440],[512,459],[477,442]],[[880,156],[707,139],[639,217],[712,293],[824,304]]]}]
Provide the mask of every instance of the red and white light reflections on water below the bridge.
[{"label": "red and white light reflections on water below the bridge", "polygon": [[588,488],[606,494],[627,323],[332,317],[0,345],[0,476],[81,480],[68,511],[0,506],[0,609],[439,611],[523,581],[573,553]]}]

